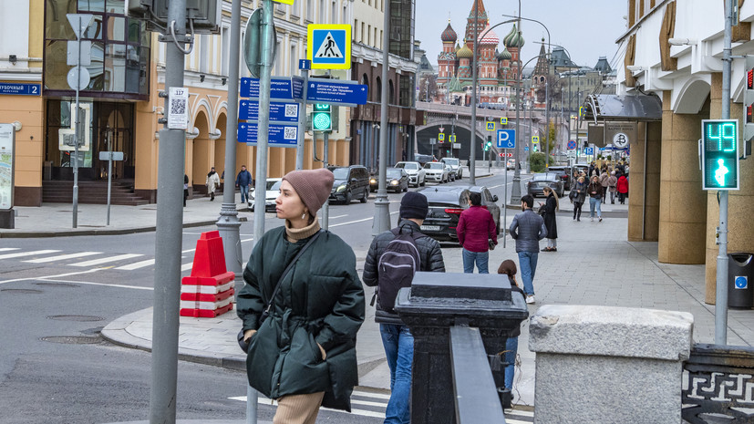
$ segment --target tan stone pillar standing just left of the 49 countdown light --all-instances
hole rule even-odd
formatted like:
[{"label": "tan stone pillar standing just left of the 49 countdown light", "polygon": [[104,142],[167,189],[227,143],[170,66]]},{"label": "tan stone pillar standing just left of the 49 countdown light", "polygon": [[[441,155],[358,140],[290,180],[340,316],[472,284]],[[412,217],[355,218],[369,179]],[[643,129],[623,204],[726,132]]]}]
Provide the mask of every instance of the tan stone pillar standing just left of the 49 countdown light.
[{"label": "tan stone pillar standing just left of the 49 countdown light", "polygon": [[[657,240],[657,258],[661,263],[704,263],[707,194],[701,190],[698,140],[701,119],[709,117],[708,104],[696,115],[677,114],[671,109],[670,91],[663,93]],[[631,161],[633,164],[634,158]],[[632,174],[633,171],[632,167]],[[633,195],[632,190],[629,186],[629,195]]]}]

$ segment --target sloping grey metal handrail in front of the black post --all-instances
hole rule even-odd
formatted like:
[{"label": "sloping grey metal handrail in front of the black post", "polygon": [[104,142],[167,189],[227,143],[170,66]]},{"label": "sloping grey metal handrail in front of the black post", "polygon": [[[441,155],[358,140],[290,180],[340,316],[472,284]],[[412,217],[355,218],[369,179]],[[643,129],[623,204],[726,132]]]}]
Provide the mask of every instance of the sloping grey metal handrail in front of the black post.
[{"label": "sloping grey metal handrail in front of the black post", "polygon": [[456,423],[505,424],[498,388],[479,328],[450,327],[450,360],[456,398]]}]

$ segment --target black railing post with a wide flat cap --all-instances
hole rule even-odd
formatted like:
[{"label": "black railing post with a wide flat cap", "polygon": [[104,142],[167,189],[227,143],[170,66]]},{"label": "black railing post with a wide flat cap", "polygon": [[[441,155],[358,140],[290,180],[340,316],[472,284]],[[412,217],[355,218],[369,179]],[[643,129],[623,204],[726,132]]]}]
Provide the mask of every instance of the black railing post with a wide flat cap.
[{"label": "black railing post with a wide flat cap", "polygon": [[[414,336],[412,424],[456,422],[451,326],[479,327],[486,353],[501,360],[505,340],[529,316],[523,296],[498,274],[417,273],[398,292],[395,310]],[[501,374],[495,377],[502,386]]]}]

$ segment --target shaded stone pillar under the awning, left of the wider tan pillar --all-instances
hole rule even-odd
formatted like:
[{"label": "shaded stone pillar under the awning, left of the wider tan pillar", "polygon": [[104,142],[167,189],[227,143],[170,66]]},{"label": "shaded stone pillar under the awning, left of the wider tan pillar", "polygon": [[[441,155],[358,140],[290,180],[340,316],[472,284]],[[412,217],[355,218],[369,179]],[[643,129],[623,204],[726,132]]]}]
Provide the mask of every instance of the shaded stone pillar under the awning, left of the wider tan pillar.
[{"label": "shaded stone pillar under the awning, left of the wider tan pillar", "polygon": [[[631,182],[629,186],[631,195],[628,198],[629,242],[657,241],[660,214],[661,143],[662,124],[660,122],[638,123],[635,140],[631,140]],[[642,220],[642,216],[644,216],[644,220]]]}]

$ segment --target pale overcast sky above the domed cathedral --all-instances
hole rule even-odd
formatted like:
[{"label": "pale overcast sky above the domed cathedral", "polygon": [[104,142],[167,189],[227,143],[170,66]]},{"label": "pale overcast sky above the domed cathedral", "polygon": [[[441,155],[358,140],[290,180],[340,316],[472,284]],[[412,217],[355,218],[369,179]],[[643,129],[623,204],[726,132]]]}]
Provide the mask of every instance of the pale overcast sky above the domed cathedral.
[{"label": "pale overcast sky above the domed cathedral", "polygon": [[[550,30],[552,44],[558,44],[571,53],[578,65],[594,67],[599,57],[607,57],[610,66],[622,60],[623,49],[615,57],[618,45],[615,39],[625,33],[626,2],[621,0],[522,0],[522,17],[536,19]],[[416,38],[421,48],[427,51],[429,63],[437,65],[438,54],[442,50],[440,34],[450,25],[463,41],[466,19],[469,17],[473,0],[416,0]],[[505,15],[517,15],[519,3],[515,0],[484,0],[484,8],[490,18],[490,25],[510,19]],[[511,31],[512,24],[493,29],[501,39]],[[536,22],[522,21],[525,44],[522,60],[526,61],[539,54],[540,40],[547,40],[547,33]],[[533,62],[532,62],[533,64]]]}]

